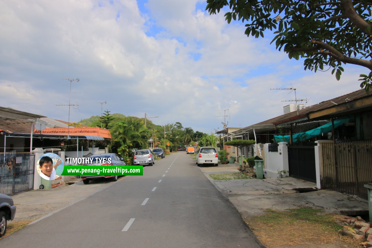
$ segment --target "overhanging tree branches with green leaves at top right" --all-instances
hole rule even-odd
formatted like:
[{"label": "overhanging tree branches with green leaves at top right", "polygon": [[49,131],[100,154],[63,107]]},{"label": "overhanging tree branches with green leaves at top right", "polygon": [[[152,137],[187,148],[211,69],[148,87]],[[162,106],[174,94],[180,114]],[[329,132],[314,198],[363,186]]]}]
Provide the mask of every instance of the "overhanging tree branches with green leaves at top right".
[{"label": "overhanging tree branches with green leaves at top right", "polygon": [[[284,47],[290,59],[305,58],[304,69],[333,68],[337,80],[342,64],[355,64],[372,71],[371,1],[341,0],[207,0],[209,14],[224,6],[228,23],[241,20],[247,36],[259,38],[273,31],[279,51]],[[279,17],[280,15],[280,17]],[[361,87],[371,86],[371,77],[362,77]]]}]

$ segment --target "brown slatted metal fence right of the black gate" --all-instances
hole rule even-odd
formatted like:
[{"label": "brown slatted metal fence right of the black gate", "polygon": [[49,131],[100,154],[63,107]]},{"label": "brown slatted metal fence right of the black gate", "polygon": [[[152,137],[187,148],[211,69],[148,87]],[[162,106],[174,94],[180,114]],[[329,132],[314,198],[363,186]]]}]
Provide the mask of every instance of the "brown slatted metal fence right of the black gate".
[{"label": "brown slatted metal fence right of the black gate", "polygon": [[372,182],[372,141],[323,143],[324,189],[368,199],[364,184]]}]

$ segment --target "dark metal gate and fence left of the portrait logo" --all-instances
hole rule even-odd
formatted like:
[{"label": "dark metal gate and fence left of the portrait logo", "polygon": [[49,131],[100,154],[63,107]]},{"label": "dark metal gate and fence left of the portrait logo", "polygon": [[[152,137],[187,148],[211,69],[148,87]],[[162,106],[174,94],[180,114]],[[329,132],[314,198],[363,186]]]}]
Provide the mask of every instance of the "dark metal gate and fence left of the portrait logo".
[{"label": "dark metal gate and fence left of the portrait logo", "polygon": [[33,189],[35,154],[0,153],[0,193],[9,196]]}]

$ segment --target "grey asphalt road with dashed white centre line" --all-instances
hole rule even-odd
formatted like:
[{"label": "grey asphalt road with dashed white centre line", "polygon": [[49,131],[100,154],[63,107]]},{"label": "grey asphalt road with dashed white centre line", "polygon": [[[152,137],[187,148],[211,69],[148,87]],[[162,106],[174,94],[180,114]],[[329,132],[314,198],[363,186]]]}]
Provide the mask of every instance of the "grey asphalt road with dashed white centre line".
[{"label": "grey asphalt road with dashed white centre line", "polygon": [[0,246],[262,247],[185,152],[26,226]]}]

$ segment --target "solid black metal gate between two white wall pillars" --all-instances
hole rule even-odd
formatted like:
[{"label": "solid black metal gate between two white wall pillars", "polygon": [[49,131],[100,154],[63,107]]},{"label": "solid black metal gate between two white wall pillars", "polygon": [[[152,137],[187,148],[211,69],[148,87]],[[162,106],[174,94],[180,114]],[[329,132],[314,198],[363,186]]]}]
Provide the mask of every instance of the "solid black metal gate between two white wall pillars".
[{"label": "solid black metal gate between two white wall pillars", "polygon": [[288,146],[289,175],[316,182],[314,145]]}]

